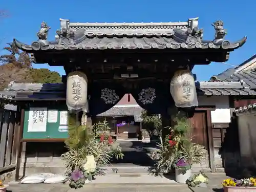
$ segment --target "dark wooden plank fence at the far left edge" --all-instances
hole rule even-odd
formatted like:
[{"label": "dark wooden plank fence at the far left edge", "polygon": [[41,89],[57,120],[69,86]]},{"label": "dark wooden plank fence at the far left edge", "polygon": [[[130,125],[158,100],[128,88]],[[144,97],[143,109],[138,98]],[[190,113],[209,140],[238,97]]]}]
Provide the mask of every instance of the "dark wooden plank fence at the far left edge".
[{"label": "dark wooden plank fence at the far left edge", "polygon": [[16,165],[19,115],[18,111],[0,111],[0,173]]}]

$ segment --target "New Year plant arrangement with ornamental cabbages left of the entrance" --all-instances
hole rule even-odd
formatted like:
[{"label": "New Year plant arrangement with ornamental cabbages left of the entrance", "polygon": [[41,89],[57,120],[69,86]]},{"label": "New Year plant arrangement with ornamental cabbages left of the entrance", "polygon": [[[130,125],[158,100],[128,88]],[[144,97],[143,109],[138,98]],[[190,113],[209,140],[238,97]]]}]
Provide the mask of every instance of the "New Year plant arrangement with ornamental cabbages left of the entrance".
[{"label": "New Year plant arrangement with ornamental cabbages left of the entrance", "polygon": [[108,165],[112,157],[123,157],[121,147],[107,136],[108,122],[99,122],[93,127],[76,126],[76,115],[69,114],[69,138],[65,141],[69,151],[61,155],[68,176],[66,182],[72,188],[80,188],[91,181],[102,172],[99,167]]}]

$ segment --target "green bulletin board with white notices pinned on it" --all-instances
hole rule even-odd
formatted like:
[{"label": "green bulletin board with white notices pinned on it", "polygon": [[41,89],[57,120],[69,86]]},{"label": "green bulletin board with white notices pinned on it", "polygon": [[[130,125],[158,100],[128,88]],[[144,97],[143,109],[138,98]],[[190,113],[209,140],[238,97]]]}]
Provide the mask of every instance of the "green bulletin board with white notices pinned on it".
[{"label": "green bulletin board with white notices pinned on it", "polygon": [[23,139],[68,138],[67,106],[36,107],[25,109]]}]

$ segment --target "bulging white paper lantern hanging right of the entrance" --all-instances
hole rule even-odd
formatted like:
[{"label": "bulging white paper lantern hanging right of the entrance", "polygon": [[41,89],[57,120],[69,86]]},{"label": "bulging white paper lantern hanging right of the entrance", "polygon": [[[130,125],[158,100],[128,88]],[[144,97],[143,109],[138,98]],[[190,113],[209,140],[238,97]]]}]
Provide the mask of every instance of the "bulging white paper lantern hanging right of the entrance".
[{"label": "bulging white paper lantern hanging right of the entrance", "polygon": [[170,94],[178,108],[198,106],[195,79],[191,71],[179,70],[170,81]]}]

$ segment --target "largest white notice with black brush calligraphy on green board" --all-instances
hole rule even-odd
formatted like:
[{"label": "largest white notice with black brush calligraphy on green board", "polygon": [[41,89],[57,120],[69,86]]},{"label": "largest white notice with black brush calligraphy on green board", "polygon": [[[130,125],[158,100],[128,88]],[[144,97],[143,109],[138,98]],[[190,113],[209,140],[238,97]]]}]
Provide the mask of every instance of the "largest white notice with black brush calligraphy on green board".
[{"label": "largest white notice with black brush calligraphy on green board", "polygon": [[28,132],[46,132],[47,108],[30,108]]}]

